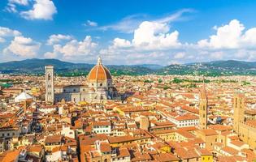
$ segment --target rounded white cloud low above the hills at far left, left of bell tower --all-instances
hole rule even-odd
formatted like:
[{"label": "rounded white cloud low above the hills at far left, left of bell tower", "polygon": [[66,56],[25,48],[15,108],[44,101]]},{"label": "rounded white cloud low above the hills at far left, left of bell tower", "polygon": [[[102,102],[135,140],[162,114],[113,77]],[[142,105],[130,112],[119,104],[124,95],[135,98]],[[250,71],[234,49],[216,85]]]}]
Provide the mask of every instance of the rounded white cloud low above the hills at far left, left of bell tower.
[{"label": "rounded white cloud low above the hills at far left, left of bell tower", "polygon": [[22,58],[33,58],[37,55],[41,44],[24,36],[15,36],[11,44],[3,49],[3,53],[14,53]]}]

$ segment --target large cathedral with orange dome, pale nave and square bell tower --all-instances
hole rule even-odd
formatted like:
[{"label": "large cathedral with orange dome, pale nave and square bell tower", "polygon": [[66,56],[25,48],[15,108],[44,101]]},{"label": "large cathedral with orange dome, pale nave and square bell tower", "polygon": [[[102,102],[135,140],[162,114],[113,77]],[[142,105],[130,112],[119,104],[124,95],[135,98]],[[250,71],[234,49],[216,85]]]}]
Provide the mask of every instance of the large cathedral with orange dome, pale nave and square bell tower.
[{"label": "large cathedral with orange dome, pale nave and square bell tower", "polygon": [[54,87],[54,67],[46,66],[46,102],[61,100],[89,103],[100,103],[115,99],[116,89],[112,83],[111,72],[102,64],[102,59],[90,70],[87,76],[88,85],[67,85]]}]

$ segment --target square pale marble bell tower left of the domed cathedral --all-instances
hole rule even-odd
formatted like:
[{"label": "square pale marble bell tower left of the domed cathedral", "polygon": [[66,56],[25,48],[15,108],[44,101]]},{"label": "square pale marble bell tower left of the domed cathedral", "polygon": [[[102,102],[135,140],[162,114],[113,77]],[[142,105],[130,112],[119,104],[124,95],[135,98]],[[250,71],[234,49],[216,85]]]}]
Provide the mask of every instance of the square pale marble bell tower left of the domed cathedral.
[{"label": "square pale marble bell tower left of the domed cathedral", "polygon": [[46,102],[54,104],[54,66],[46,68]]}]

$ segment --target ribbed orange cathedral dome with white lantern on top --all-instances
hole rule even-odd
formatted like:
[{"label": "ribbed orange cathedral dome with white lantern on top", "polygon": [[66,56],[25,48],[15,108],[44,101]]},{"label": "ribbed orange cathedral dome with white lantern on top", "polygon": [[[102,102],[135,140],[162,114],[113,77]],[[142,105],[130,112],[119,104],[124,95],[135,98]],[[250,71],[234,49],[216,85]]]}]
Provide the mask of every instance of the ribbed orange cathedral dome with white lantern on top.
[{"label": "ribbed orange cathedral dome with white lantern on top", "polygon": [[107,81],[111,80],[111,72],[102,65],[102,58],[98,58],[97,65],[90,70],[88,75],[89,82]]}]

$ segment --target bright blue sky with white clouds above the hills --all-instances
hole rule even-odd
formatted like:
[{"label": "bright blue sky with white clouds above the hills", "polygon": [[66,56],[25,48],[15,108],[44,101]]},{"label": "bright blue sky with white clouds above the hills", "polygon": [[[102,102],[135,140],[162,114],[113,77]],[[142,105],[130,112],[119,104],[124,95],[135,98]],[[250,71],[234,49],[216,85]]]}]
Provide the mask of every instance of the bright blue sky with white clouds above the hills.
[{"label": "bright blue sky with white clouds above the hills", "polygon": [[0,62],[256,61],[256,2],[1,0]]}]

